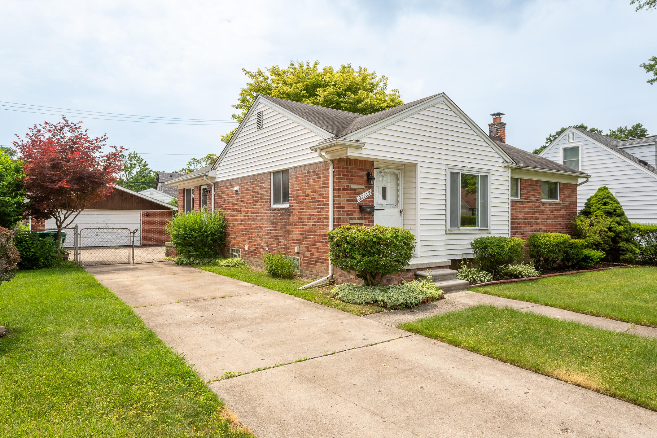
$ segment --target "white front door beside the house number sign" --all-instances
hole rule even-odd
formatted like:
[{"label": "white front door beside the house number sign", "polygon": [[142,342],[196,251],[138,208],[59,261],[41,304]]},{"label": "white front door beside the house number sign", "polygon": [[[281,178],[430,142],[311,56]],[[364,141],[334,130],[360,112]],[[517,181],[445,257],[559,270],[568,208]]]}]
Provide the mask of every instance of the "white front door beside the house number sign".
[{"label": "white front door beside the house number sign", "polygon": [[374,224],[401,227],[401,171],[375,169]]}]

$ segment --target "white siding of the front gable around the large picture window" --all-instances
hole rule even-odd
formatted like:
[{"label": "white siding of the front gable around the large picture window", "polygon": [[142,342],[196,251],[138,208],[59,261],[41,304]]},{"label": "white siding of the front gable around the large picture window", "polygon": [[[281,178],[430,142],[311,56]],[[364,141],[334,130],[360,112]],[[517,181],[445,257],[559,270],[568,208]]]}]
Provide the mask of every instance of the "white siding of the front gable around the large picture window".
[{"label": "white siding of the front gable around the large picture window", "polygon": [[[470,128],[447,103],[439,102],[361,139],[365,146],[353,158],[382,162],[413,162],[405,166],[405,184],[415,181],[406,174],[420,163],[420,256],[459,259],[471,257],[470,242],[487,235],[509,236],[509,170],[502,157]],[[486,171],[490,174],[489,230],[448,230],[447,168]],[[409,189],[404,188],[405,196]],[[411,228],[413,204],[404,204],[404,227]],[[409,211],[413,210],[413,211]],[[413,214],[415,216],[415,214]],[[413,217],[415,223],[415,217]]]}]

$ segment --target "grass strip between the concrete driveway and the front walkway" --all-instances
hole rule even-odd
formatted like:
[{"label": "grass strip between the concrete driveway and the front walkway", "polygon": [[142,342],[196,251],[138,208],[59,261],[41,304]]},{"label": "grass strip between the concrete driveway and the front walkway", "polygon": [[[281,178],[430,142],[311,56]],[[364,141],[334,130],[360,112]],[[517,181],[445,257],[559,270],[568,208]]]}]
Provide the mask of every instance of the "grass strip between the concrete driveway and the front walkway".
[{"label": "grass strip between the concrete driveway and the front walkway", "polygon": [[484,305],[399,328],[657,410],[657,339]]}]

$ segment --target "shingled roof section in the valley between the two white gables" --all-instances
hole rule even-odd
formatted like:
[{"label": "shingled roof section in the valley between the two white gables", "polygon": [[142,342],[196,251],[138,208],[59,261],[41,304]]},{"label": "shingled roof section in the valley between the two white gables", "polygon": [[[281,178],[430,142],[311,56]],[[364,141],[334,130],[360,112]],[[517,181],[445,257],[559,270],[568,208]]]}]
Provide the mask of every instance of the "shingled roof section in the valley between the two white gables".
[{"label": "shingled roof section in the valley between the two white gables", "polygon": [[411,108],[411,106],[415,106],[436,96],[438,95],[424,97],[419,100],[414,100],[413,102],[388,108],[387,110],[374,112],[372,114],[356,114],[355,112],[334,110],[333,108],[325,108],[324,106],[260,95],[262,99],[269,100],[269,102],[285,108],[292,114],[296,114],[296,116],[313,123],[313,125],[321,127],[336,138],[345,137],[354,131],[372,125],[377,121],[383,120],[386,117],[390,117],[393,114],[397,114],[398,112]]}]

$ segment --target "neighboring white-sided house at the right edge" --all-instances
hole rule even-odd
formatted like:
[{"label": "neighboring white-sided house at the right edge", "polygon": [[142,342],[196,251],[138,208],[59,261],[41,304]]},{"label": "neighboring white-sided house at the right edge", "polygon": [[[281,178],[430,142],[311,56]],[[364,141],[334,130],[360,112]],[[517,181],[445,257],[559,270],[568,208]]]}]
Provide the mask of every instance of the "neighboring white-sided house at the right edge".
[{"label": "neighboring white-sided house at the right edge", "polygon": [[578,209],[607,186],[630,221],[657,223],[657,135],[620,140],[571,126],[540,156],[591,175],[579,187]]}]

